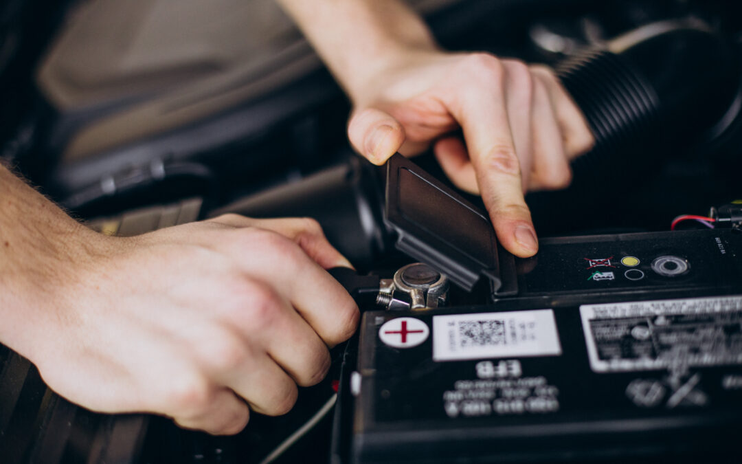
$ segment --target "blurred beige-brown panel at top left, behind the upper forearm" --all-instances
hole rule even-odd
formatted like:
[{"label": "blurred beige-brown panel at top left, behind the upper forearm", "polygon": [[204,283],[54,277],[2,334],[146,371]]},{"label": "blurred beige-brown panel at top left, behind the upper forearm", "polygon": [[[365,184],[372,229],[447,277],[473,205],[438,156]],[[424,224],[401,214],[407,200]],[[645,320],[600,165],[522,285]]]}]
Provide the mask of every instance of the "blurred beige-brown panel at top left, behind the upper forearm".
[{"label": "blurred beige-brown panel at top left, behind the upper forearm", "polygon": [[[410,3],[429,11],[453,1]],[[74,135],[63,159],[76,160],[208,117],[320,66],[273,0],[91,0],[70,14],[38,82],[62,112],[128,104]]]}]

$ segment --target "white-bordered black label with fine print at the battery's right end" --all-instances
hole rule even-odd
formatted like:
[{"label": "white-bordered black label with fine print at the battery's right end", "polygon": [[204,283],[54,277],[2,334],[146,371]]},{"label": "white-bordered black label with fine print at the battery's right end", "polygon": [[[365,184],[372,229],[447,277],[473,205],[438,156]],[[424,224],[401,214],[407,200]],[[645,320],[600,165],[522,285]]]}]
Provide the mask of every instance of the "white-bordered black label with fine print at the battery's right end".
[{"label": "white-bordered black label with fine print at the battery's right end", "polygon": [[585,304],[594,372],[742,364],[742,296]]}]

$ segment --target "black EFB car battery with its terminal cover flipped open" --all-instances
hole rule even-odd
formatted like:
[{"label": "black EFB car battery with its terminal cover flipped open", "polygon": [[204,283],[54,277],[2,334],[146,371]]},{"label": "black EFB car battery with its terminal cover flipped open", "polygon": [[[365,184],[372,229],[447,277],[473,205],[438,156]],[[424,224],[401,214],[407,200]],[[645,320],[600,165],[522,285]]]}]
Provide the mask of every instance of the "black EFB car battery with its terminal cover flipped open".
[{"label": "black EFB car battery with its terminal cover flipped open", "polygon": [[362,305],[335,462],[739,462],[742,234],[513,258],[483,212],[402,157],[388,169],[385,219],[424,264]]}]

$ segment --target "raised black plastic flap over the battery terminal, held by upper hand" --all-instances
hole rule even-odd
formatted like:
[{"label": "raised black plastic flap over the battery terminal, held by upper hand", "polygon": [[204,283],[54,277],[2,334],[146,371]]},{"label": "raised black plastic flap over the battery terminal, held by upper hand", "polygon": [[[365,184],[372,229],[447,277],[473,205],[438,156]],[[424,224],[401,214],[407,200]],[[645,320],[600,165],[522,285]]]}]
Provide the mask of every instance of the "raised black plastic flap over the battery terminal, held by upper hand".
[{"label": "raised black plastic flap over the battery terminal, held by upper hand", "polygon": [[401,154],[387,162],[384,221],[396,232],[399,251],[464,290],[471,291],[482,275],[493,293],[500,293],[503,281],[516,282],[513,255],[498,250],[487,214]]}]

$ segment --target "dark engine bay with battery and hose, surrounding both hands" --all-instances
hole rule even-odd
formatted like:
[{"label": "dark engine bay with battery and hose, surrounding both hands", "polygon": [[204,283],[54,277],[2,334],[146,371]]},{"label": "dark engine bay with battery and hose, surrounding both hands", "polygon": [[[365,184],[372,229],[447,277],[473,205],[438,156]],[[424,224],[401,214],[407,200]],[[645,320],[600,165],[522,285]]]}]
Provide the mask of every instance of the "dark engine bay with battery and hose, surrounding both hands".
[{"label": "dark engine bay with battery and hose, surrounding both hands", "polygon": [[[0,345],[3,460],[735,462],[741,7],[412,3],[444,48],[554,67],[585,113],[596,146],[571,186],[526,196],[533,258],[502,248],[482,200],[432,154],[381,167],[354,154],[349,102],[272,10],[276,42],[252,68],[191,63],[172,82],[153,68],[140,88],[75,101],[59,91],[84,81],[65,81],[65,53],[96,2],[0,7],[15,38],[0,53],[5,162],[105,235],[226,213],[315,218],[355,266],[331,273],[362,313],[323,382],[234,437],[79,408]],[[150,124],[148,108],[172,122]]]}]

